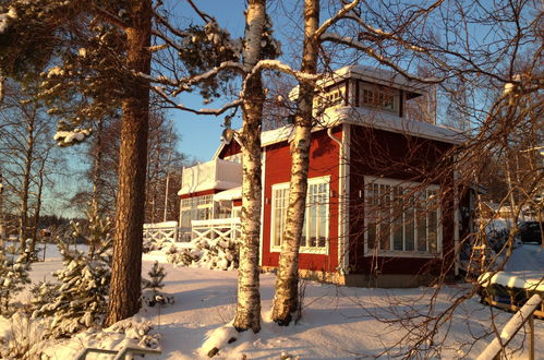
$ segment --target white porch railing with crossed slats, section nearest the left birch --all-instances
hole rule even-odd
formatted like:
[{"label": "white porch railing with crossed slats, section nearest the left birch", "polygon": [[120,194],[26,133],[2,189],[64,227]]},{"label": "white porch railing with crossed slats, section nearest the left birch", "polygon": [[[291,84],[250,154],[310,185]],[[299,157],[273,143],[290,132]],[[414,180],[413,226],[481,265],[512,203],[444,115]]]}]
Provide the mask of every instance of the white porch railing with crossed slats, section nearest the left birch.
[{"label": "white porch railing with crossed slats, section nearest the left birch", "polygon": [[240,238],[240,218],[193,220],[191,221],[192,240],[232,240]]}]

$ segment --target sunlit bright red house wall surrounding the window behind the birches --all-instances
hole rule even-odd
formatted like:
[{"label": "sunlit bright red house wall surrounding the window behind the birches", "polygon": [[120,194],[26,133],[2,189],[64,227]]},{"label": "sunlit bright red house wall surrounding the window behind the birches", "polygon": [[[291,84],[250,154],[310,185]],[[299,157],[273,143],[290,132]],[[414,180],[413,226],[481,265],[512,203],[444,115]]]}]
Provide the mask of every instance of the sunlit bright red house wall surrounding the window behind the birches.
[{"label": "sunlit bright red house wall surrounding the window behind the birches", "polygon": [[[333,134],[341,139],[342,131],[338,127]],[[338,158],[339,148],[326,130],[312,134],[310,148],[309,178],[330,176],[329,184],[329,251],[328,254],[300,254],[300,268],[334,272],[338,266]],[[287,141],[266,147],[266,176],[263,189],[265,192],[263,224],[263,265],[278,266],[279,252],[270,251],[271,235],[271,185],[289,182],[291,154]]]}]

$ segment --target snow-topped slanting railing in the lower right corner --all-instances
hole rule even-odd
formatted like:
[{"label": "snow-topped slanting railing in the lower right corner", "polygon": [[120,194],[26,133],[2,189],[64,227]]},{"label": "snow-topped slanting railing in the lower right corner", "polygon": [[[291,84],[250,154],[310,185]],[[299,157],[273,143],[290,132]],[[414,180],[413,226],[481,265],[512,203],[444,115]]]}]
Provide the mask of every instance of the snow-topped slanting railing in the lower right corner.
[{"label": "snow-topped slanting railing in the lower right corner", "polygon": [[542,298],[535,293],[529,299],[525,304],[508,321],[500,332],[499,337],[495,337],[493,341],[480,353],[477,360],[495,359],[500,351],[506,348],[508,343],[519,332],[523,325],[529,322],[529,359],[534,359],[534,311],[541,307]]}]

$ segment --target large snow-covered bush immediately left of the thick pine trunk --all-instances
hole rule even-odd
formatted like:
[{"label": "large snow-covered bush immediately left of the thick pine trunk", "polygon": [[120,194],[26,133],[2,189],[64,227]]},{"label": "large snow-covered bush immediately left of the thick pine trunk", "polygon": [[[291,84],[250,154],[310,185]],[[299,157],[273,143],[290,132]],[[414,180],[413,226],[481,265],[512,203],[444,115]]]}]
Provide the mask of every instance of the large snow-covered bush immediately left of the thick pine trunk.
[{"label": "large snow-covered bush immediately left of the thick pine trunk", "polygon": [[[89,252],[70,249],[58,239],[64,267],[53,275],[58,285],[41,284],[33,300],[33,319],[51,316],[50,335],[69,336],[101,324],[107,310],[106,297],[111,275],[111,223],[100,220],[96,209],[87,215]],[[73,237],[82,229],[73,224]],[[52,299],[51,299],[52,297]]]}]

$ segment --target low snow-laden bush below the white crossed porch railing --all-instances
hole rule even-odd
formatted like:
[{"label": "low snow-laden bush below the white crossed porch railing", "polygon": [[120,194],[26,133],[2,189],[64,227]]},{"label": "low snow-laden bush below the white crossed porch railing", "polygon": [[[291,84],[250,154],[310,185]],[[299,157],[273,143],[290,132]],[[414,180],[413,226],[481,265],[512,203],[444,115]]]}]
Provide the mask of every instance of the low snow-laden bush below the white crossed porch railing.
[{"label": "low snow-laden bush below the white crossed porch railing", "polygon": [[239,244],[237,241],[222,239],[196,239],[191,249],[172,250],[167,255],[168,262],[181,266],[200,266],[211,269],[238,268]]}]

